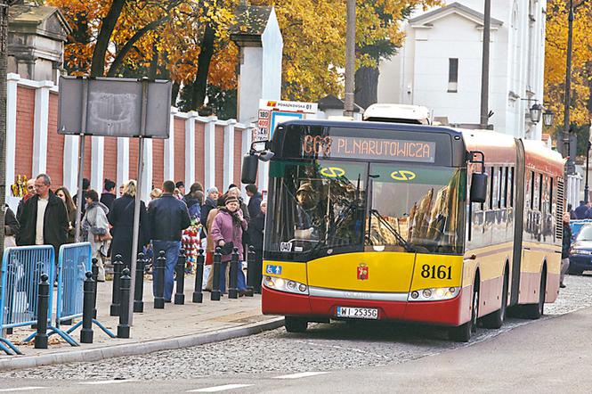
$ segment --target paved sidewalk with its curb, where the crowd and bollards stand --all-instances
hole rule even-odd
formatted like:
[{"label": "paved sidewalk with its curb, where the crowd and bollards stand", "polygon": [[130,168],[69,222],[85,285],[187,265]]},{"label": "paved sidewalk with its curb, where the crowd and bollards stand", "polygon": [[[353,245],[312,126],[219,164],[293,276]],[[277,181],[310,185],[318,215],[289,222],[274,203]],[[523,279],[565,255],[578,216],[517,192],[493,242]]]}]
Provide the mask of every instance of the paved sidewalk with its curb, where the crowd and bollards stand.
[{"label": "paved sidewalk with its curb, where the crowd and bollards stand", "polygon": [[[192,303],[194,278],[185,278],[185,305],[165,304],[165,309],[154,309],[152,282],[144,280],[144,312],[134,314],[130,339],[111,339],[93,324],[92,344],[81,343],[80,347],[72,347],[54,334],[50,337],[49,349],[35,349],[32,342],[20,344],[34,331],[28,326],[15,328],[8,338],[17,344],[24,356],[5,356],[2,352],[0,371],[180,349],[272,330],[283,325],[283,318],[261,314],[261,296],[257,294],[252,298],[240,297],[239,300],[229,300],[224,296],[220,301],[211,301],[210,293],[204,292],[202,304]],[[113,283],[98,284],[97,320],[117,335],[119,317],[109,316]],[[63,330],[69,327],[61,326]],[[80,330],[77,328],[72,333],[78,342]]]}]

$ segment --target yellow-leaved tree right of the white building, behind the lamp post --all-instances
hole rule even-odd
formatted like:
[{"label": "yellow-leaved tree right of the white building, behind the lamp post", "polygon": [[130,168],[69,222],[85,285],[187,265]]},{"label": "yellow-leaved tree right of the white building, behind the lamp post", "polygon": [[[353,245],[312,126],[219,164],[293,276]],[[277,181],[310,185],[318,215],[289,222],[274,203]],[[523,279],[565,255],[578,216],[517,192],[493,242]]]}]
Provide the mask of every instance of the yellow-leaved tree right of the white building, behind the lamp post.
[{"label": "yellow-leaved tree right of the white building, behind the lamp post", "polygon": [[[572,103],[570,119],[574,125],[586,125],[590,112],[592,79],[592,2],[574,1],[577,6],[573,21]],[[567,23],[569,2],[548,0],[545,47],[545,103],[556,113],[555,123],[564,122],[565,61],[567,56]]]}]

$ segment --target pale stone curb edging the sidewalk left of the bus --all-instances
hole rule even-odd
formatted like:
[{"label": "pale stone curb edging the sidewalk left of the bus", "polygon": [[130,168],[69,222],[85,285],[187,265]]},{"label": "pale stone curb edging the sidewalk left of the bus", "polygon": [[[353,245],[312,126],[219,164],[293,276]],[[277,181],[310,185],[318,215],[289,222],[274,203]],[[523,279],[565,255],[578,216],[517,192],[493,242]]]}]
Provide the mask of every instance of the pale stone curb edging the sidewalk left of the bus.
[{"label": "pale stone curb edging the sidewalk left of the bus", "polygon": [[284,325],[284,318],[275,317],[263,323],[247,324],[241,327],[227,328],[215,332],[184,335],[166,340],[126,343],[101,349],[74,350],[41,356],[15,356],[0,360],[0,371],[35,368],[41,365],[101,361],[113,357],[141,356],[155,351],[189,348],[191,346],[231,340],[233,338],[274,330],[282,325]]}]

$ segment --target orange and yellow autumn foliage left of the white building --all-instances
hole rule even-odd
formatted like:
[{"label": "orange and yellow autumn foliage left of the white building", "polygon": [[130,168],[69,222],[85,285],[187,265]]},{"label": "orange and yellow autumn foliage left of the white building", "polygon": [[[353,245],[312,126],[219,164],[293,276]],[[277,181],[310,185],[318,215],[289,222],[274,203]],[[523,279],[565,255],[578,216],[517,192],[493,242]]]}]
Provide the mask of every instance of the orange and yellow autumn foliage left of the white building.
[{"label": "orange and yellow autumn foliage left of the white building", "polygon": [[[61,8],[74,33],[66,46],[65,63],[71,74],[142,76],[152,73],[178,85],[196,81],[199,53],[207,29],[214,29],[213,53],[207,84],[236,87],[238,48],[229,37],[239,0],[46,0]],[[438,0],[358,1],[358,66],[376,67],[378,59],[361,50],[387,42],[394,48],[404,35],[401,21],[415,7]],[[345,0],[254,0],[252,5],[275,6],[284,39],[282,97],[318,100],[341,94],[345,66]],[[109,23],[109,11],[121,6],[105,53],[97,57],[97,42]],[[108,30],[108,29],[107,29]],[[104,34],[103,34],[104,36]],[[104,42],[101,44],[104,45]],[[101,46],[99,45],[99,46]],[[104,56],[103,56],[104,54]]]}]

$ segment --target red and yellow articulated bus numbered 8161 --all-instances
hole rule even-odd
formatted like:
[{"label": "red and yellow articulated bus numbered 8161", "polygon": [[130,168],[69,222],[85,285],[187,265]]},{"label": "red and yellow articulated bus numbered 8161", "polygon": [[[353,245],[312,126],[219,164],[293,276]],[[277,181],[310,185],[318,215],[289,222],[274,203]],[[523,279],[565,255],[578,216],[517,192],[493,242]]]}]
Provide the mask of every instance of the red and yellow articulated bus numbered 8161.
[{"label": "red and yellow articulated bus numbered 8161", "polygon": [[296,120],[253,144],[270,160],[262,309],[288,332],[377,319],[469,341],[559,290],[564,160],[493,131]]}]

